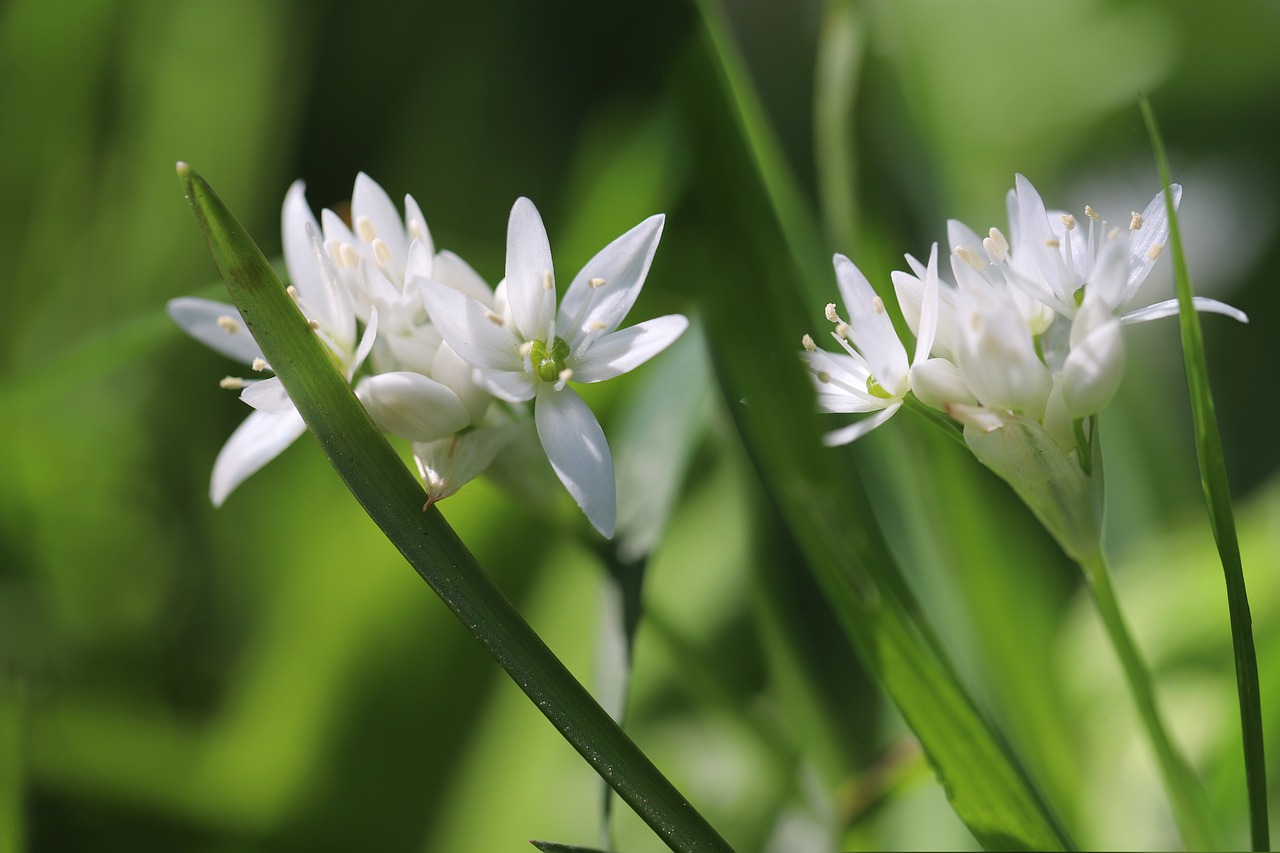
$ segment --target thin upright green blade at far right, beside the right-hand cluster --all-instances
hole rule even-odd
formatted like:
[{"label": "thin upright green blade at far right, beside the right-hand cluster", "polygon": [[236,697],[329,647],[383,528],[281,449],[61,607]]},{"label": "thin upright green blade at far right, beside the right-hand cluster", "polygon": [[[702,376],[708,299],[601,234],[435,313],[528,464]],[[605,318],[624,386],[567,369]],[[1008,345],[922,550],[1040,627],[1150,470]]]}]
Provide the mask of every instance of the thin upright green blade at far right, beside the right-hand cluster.
[{"label": "thin upright green blade at far right, beside the right-hand cluster", "polygon": [[1201,484],[1208,508],[1210,526],[1217,543],[1219,558],[1226,579],[1226,602],[1231,619],[1231,644],[1235,649],[1235,686],[1240,699],[1240,734],[1244,743],[1244,779],[1249,798],[1249,827],[1254,850],[1270,849],[1271,833],[1267,825],[1267,770],[1262,743],[1262,699],[1258,690],[1258,658],[1253,648],[1253,617],[1249,597],[1244,588],[1244,566],[1240,561],[1240,543],[1235,534],[1235,515],[1231,511],[1231,491],[1226,482],[1226,462],[1222,459],[1222,438],[1213,412],[1213,394],[1208,387],[1208,366],[1204,361],[1204,338],[1201,334],[1199,314],[1192,302],[1190,273],[1183,254],[1181,229],[1170,191],[1169,160],[1165,142],[1156,124],[1151,101],[1142,97],[1142,115],[1147,123],[1151,145],[1160,165],[1160,179],[1165,187],[1165,210],[1169,213],[1169,248],[1174,256],[1174,280],[1178,287],[1178,324],[1183,338],[1183,360],[1187,365],[1187,386],[1192,401],[1192,421],[1196,428],[1196,457],[1199,461]]}]

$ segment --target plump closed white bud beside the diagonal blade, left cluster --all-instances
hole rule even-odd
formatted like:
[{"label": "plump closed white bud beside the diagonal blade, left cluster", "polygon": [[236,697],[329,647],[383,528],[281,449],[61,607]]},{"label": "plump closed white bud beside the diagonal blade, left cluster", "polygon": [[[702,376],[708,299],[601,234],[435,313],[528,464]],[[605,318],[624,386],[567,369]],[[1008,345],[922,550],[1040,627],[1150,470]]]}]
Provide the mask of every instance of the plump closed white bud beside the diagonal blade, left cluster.
[{"label": "plump closed white bud beside the diagonal blade, left cluster", "polygon": [[420,373],[401,370],[361,379],[356,396],[374,423],[415,442],[452,435],[471,421],[456,393]]}]

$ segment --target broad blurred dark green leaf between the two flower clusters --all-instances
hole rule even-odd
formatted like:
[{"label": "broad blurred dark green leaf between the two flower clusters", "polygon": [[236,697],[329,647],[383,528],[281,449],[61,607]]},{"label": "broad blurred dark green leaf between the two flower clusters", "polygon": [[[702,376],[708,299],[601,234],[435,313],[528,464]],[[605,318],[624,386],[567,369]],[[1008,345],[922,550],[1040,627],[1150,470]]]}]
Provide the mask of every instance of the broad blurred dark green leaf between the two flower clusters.
[{"label": "broad blurred dark green leaf between the two flower clusters", "polygon": [[[709,0],[699,4],[709,6]],[[774,517],[790,528],[845,633],[919,738],[979,843],[988,849],[1070,849],[1070,838],[920,617],[851,455],[822,446],[813,392],[796,356],[803,324],[795,284],[803,272],[780,234],[777,218],[786,211],[772,209],[750,140],[733,136],[732,128],[744,123],[724,114],[740,99],[726,92],[732,85],[719,46],[710,41],[710,50],[695,59],[703,65],[681,78],[696,146],[686,232],[698,240],[678,251],[690,279],[707,283],[703,316],[717,373]],[[788,223],[783,231],[796,227]]]}]

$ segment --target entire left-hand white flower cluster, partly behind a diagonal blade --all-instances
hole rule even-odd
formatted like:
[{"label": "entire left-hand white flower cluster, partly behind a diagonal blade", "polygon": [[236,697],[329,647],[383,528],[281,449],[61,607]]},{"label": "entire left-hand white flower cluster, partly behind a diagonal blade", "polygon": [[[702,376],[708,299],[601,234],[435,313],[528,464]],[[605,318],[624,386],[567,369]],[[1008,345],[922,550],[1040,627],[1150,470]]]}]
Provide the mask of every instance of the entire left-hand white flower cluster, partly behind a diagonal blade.
[{"label": "entire left-hand white flower cluster, partly behind a diagonal blade", "polygon": [[[330,210],[317,222],[296,182],[284,199],[282,232],[289,293],[374,421],[413,442],[429,502],[483,473],[532,425],[557,476],[611,537],[612,456],[599,421],[568,383],[627,373],[687,327],[669,315],[618,330],[644,286],[663,222],[650,216],[605,246],[558,307],[547,231],[527,199],[512,207],[506,278],[495,288],[457,255],[436,251],[412,196],[402,218],[364,173],[349,227]],[[178,298],[169,314],[255,373],[270,370],[234,306]],[[239,391],[255,411],[214,464],[215,506],[306,430],[279,379],[228,377],[220,384]]]}]

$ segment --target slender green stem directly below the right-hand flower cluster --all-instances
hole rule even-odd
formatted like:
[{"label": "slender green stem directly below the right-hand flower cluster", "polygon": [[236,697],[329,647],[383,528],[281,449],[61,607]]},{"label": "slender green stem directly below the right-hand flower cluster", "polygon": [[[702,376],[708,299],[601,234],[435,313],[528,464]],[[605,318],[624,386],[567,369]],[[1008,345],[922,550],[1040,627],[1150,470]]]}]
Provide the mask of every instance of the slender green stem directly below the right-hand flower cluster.
[{"label": "slender green stem directly below the right-hand flower cluster", "polygon": [[1183,841],[1189,850],[1213,849],[1215,833],[1210,820],[1207,798],[1196,780],[1190,765],[1174,745],[1169,730],[1165,729],[1164,720],[1161,720],[1151,672],[1143,663],[1133,635],[1125,625],[1102,551],[1094,551],[1093,555],[1082,558],[1080,569],[1084,570],[1084,576],[1089,581],[1089,589],[1093,592],[1093,601],[1098,606],[1102,624],[1107,629],[1107,637],[1111,638],[1111,646],[1120,657],[1125,680],[1129,683],[1134,704],[1138,706],[1138,716],[1142,719],[1151,745],[1156,751],[1156,762],[1165,783],[1165,792],[1172,804],[1174,818],[1183,834]]}]

